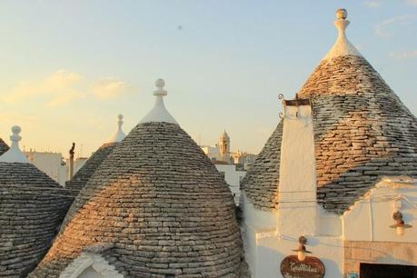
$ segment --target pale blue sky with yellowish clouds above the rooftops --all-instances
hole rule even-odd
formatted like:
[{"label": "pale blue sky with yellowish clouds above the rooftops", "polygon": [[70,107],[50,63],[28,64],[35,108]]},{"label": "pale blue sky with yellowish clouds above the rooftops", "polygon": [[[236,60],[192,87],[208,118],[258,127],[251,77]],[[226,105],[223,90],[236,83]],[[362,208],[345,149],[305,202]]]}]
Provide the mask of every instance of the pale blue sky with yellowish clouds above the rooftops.
[{"label": "pale blue sky with yellowish clouds above the rooftops", "polygon": [[[128,132],[154,104],[184,130],[257,153],[333,45],[337,8],[352,44],[417,114],[417,0],[1,1],[0,137],[20,124],[26,149],[89,155],[124,114]],[[179,28],[181,26],[181,28]],[[78,149],[79,151],[79,149]]]}]

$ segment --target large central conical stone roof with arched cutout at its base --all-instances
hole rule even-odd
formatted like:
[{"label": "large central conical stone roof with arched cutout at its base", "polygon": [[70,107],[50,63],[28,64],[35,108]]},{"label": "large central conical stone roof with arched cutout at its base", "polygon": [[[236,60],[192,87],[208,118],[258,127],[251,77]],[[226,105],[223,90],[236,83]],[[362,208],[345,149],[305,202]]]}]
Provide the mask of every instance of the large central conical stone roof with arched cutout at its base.
[{"label": "large central conical stone roof with arched cutout at its base", "polygon": [[59,277],[94,246],[107,246],[100,255],[124,277],[239,276],[233,196],[193,139],[158,114],[114,147],[29,277]]}]

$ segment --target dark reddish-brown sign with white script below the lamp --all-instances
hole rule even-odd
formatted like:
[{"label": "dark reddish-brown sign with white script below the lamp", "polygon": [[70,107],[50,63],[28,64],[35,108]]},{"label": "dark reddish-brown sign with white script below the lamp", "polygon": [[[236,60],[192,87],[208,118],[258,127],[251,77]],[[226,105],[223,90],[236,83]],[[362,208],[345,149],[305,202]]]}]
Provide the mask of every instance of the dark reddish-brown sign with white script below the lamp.
[{"label": "dark reddish-brown sign with white script below the lamp", "polygon": [[303,262],[296,255],[285,257],[281,263],[284,278],[323,278],[324,264],[316,257],[305,257]]}]

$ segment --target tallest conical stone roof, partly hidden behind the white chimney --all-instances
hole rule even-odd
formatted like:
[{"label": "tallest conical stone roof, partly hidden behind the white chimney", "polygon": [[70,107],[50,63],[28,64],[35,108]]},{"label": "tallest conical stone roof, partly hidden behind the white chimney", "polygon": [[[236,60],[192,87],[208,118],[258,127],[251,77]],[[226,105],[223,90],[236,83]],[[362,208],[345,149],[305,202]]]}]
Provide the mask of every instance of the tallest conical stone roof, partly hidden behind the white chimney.
[{"label": "tallest conical stone roof, partly hidden behind the white chimney", "polygon": [[[349,46],[333,47],[298,93],[313,103],[317,197],[333,213],[343,213],[383,175],[417,176],[415,116]],[[261,209],[276,205],[279,154],[271,152],[281,130],[278,125],[243,181],[249,201]]]}]

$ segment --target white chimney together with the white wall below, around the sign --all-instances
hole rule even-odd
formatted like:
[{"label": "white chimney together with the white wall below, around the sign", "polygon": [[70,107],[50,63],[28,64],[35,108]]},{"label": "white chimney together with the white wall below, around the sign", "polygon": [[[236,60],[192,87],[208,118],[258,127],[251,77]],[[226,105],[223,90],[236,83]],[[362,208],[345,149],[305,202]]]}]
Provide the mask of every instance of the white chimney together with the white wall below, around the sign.
[{"label": "white chimney together with the white wall below, around the sign", "polygon": [[[260,211],[243,202],[245,255],[253,278],[283,277],[280,265],[286,256],[296,254],[292,250],[297,249],[301,235],[307,238],[307,249],[323,262],[326,277],[342,277],[342,220],[316,202],[309,105],[284,107],[278,190],[275,211]],[[244,194],[241,198],[247,202]]]}]

